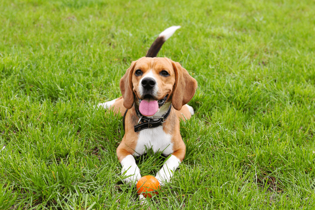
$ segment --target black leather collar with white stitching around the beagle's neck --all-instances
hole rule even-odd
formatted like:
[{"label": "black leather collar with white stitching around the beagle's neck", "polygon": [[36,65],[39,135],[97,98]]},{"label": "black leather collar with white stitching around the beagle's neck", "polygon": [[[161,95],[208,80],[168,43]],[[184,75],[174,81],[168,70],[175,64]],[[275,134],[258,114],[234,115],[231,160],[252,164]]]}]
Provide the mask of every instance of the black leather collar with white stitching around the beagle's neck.
[{"label": "black leather collar with white stitching around the beagle's neck", "polygon": [[[161,117],[149,118],[149,117],[143,116],[140,113],[139,109],[135,106],[135,110],[136,110],[137,116],[139,118],[138,125],[134,126],[135,132],[142,131],[146,128],[157,128],[157,127],[163,125],[163,122],[165,122],[166,118],[169,116],[169,113],[171,112],[171,108],[172,108],[172,104],[169,105],[169,109]],[[159,120],[156,120],[156,121],[153,120],[153,119],[157,119],[157,118],[159,118]]]}]

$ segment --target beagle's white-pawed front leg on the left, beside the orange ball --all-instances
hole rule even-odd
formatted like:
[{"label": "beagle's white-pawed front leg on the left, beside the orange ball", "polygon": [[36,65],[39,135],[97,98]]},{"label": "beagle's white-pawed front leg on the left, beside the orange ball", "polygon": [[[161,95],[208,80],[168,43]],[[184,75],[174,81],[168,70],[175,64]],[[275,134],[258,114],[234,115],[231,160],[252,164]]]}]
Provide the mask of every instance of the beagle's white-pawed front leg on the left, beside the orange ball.
[{"label": "beagle's white-pawed front leg on the left, beside the orange ball", "polygon": [[[119,145],[120,146],[120,145]],[[127,176],[123,179],[125,183],[131,185],[136,184],[136,181],[139,181],[141,178],[140,169],[135,162],[134,156],[132,156],[127,150],[117,148],[117,157],[122,166],[121,175]]]}]

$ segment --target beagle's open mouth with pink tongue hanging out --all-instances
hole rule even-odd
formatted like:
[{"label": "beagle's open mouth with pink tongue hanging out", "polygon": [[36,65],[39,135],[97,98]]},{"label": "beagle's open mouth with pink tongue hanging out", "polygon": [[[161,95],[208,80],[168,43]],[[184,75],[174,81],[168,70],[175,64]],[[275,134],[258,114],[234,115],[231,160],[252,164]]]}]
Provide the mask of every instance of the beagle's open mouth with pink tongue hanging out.
[{"label": "beagle's open mouth with pink tongue hanging out", "polygon": [[146,94],[143,99],[139,99],[139,111],[144,116],[153,116],[158,109],[163,106],[169,94],[162,99],[156,100],[150,94]]}]

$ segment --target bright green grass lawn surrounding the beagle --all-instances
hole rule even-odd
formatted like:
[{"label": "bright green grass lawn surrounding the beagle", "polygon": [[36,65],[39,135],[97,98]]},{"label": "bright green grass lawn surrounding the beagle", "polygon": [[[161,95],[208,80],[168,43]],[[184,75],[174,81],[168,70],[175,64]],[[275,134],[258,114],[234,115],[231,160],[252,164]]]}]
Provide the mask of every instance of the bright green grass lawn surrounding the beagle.
[{"label": "bright green grass lawn surrounding the beagle", "polygon": [[[0,0],[0,209],[141,209],[95,105],[165,28],[197,80],[151,209],[314,209],[315,2]],[[154,175],[160,154],[137,158]]]}]

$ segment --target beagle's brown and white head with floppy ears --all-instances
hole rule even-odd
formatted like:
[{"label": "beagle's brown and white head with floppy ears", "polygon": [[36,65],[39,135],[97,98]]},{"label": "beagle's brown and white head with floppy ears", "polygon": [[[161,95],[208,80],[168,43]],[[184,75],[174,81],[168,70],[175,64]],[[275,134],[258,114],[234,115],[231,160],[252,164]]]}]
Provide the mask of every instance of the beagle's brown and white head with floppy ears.
[{"label": "beagle's brown and white head with floppy ears", "polygon": [[135,95],[139,103],[144,99],[156,100],[161,107],[172,101],[173,107],[180,110],[194,96],[197,81],[179,63],[168,58],[143,57],[131,63],[119,86],[127,109],[133,106]]}]

